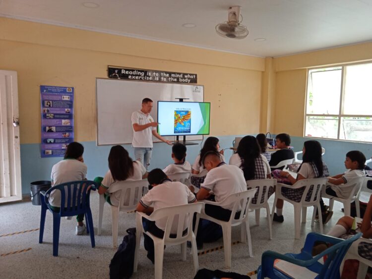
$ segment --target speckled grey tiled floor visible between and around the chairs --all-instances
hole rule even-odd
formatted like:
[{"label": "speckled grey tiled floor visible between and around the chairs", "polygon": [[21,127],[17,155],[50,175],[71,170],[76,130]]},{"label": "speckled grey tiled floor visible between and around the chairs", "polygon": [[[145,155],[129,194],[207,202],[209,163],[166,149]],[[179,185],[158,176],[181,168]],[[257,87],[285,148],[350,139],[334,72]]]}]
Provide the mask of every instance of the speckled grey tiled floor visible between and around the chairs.
[{"label": "speckled grey tiled floor visible between and around the chairs", "polygon": [[[327,201],[327,200],[326,200]],[[273,202],[271,197],[270,202]],[[271,204],[270,204],[271,206]],[[337,220],[343,216],[341,204],[335,203],[334,215],[324,225],[327,232]],[[91,208],[93,223],[97,232],[98,194],[92,192]],[[279,253],[300,251],[305,236],[311,231],[312,210],[308,210],[307,223],[302,224],[301,239],[294,239],[294,218],[292,205],[285,203],[284,223],[273,223],[273,239],[269,240],[265,213],[261,210],[260,225],[256,226],[254,214],[250,213],[250,233],[252,237],[253,258],[248,257],[248,246],[236,244],[232,246],[232,268],[227,271],[247,274],[260,265],[261,254],[266,250]],[[96,247],[91,248],[89,235],[76,236],[74,220],[61,221],[59,256],[52,256],[52,214],[47,213],[44,243],[39,244],[39,230],[9,236],[3,234],[39,228],[40,207],[31,202],[0,205],[0,278],[109,278],[109,264],[116,249],[112,248],[111,209],[105,206],[103,232],[96,235]],[[120,214],[119,240],[123,239],[125,230],[135,226],[134,213]],[[315,224],[314,230],[319,230]],[[143,238],[142,238],[143,239]],[[240,228],[233,227],[232,241],[240,240]],[[223,245],[222,239],[214,243],[204,244],[204,249]],[[13,251],[31,248],[26,252],[3,256]],[[200,255],[199,267],[207,269],[223,269],[223,250]],[[154,266],[146,258],[143,244],[140,247],[138,272],[132,278],[153,278]],[[186,262],[181,261],[180,247],[167,247],[164,254],[163,278],[193,278],[192,257],[187,253]],[[252,276],[251,278],[255,278]]]}]

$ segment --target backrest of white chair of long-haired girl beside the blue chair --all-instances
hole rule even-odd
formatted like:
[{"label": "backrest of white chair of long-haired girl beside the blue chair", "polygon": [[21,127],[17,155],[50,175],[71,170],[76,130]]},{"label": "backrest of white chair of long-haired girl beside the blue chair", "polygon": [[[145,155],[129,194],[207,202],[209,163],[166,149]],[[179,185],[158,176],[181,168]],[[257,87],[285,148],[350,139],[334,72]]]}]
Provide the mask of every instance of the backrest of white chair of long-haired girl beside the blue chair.
[{"label": "backrest of white chair of long-haired girl beside the blue chair", "polygon": [[148,189],[147,179],[134,181],[118,181],[107,190],[109,193],[121,191],[119,211],[135,210],[143,194]]}]

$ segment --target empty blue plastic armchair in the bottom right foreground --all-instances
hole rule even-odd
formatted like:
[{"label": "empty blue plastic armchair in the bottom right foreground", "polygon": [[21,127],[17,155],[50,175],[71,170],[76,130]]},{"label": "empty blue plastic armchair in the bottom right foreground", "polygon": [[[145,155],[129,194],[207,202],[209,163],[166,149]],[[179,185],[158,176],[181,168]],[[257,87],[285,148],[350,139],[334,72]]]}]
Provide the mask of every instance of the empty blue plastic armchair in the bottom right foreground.
[{"label": "empty blue plastic armchair in the bottom right foreground", "polygon": [[[340,265],[347,250],[351,244],[361,236],[362,233],[358,233],[349,239],[343,240],[316,232],[310,232],[306,237],[305,246],[300,254],[283,255],[273,251],[264,252],[261,258],[261,266],[259,266],[257,270],[257,278],[291,278],[274,268],[274,261],[279,259],[307,268],[308,270],[318,274],[314,277],[316,279],[339,279]],[[333,245],[316,257],[312,257],[311,251],[316,240],[331,243]],[[318,260],[325,255],[327,255],[325,263],[319,263]]]}]

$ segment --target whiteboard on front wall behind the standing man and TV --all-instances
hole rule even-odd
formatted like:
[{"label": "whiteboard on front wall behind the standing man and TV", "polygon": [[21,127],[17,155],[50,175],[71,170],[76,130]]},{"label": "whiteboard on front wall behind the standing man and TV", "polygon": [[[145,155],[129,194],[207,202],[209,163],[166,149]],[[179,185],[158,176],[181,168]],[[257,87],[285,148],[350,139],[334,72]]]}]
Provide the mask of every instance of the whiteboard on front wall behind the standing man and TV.
[{"label": "whiteboard on front wall behind the standing man and TV", "polygon": [[[128,144],[132,142],[131,114],[141,109],[144,98],[154,101],[150,115],[157,121],[158,101],[203,102],[202,85],[156,83],[131,80],[97,78],[97,145]],[[165,137],[174,140],[175,137]],[[202,136],[187,136],[187,140],[202,139]],[[159,141],[153,137],[153,141]]]}]

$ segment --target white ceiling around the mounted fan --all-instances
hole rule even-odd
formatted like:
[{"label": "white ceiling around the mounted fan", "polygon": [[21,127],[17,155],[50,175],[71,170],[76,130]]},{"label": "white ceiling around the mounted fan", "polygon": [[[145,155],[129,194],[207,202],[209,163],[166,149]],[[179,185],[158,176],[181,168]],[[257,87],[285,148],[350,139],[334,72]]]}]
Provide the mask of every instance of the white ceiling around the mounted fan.
[{"label": "white ceiling around the mounted fan", "polygon": [[[242,6],[246,39],[215,32],[231,5]],[[0,16],[252,56],[372,41],[372,0],[0,0]]]}]

